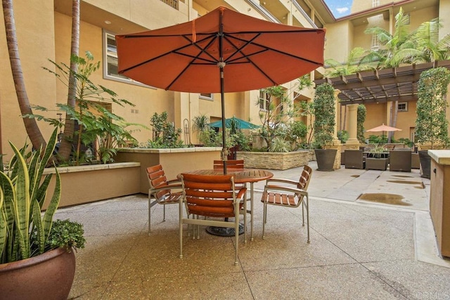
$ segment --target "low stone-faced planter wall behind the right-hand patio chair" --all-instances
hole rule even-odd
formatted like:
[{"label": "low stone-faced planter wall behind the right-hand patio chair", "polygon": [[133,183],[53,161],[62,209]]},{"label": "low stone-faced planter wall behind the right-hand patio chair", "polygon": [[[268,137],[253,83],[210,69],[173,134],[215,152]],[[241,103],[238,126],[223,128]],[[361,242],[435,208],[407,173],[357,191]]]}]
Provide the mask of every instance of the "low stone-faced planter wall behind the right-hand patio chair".
[{"label": "low stone-faced planter wall behind the right-hand patio chair", "polygon": [[311,152],[309,150],[285,153],[238,151],[237,159],[244,159],[246,168],[287,170],[308,164],[311,160]]}]

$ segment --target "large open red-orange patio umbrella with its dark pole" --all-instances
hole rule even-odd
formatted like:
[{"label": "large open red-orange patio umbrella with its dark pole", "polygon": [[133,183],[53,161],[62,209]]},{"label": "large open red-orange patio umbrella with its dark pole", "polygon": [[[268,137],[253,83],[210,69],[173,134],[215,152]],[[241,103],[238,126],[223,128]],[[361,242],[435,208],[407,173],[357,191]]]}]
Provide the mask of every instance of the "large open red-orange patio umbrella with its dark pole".
[{"label": "large open red-orange patio umbrella with its dark pole", "polygon": [[221,93],[225,133],[224,93],[284,84],[322,66],[325,32],[219,7],[190,22],[117,35],[119,73],[169,91]]}]

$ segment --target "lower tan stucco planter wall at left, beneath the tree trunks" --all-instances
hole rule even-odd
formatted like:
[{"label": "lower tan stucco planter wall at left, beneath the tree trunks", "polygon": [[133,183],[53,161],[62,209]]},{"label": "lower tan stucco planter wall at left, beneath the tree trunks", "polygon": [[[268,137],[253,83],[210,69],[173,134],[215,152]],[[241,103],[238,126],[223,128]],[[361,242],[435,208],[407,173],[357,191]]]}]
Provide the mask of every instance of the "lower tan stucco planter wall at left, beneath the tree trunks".
[{"label": "lower tan stucco planter wall at left, beneath the tree trunks", "polygon": [[[139,193],[140,170],[139,162],[58,167],[61,177],[59,206],[66,207]],[[54,168],[44,170],[44,175],[51,173],[55,173]],[[53,190],[55,180],[53,176],[50,190]]]}]

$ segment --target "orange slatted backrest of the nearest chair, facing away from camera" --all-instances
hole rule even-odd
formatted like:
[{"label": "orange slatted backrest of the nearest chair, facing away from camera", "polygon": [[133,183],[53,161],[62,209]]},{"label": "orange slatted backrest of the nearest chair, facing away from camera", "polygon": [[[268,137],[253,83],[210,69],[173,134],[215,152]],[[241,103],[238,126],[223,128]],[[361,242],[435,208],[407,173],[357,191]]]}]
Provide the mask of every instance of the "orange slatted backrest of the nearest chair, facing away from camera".
[{"label": "orange slatted backrest of the nearest chair, facing away from camera", "polygon": [[235,216],[236,192],[232,175],[181,175],[189,214],[219,218]]}]

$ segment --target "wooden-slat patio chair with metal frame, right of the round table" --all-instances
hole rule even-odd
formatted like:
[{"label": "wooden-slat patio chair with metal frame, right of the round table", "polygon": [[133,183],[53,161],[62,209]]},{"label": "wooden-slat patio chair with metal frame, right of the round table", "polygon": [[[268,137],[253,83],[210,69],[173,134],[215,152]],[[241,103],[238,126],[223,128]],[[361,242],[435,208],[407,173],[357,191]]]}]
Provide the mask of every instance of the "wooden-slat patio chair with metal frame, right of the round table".
[{"label": "wooden-slat patio chair with metal frame, right of the round table", "polygon": [[[347,157],[346,157],[347,159]],[[267,179],[264,186],[261,202],[264,204],[262,221],[262,238],[267,223],[267,206],[278,205],[281,207],[300,207],[302,205],[302,226],[304,226],[304,211],[307,212],[307,242],[309,243],[309,196],[307,188],[311,181],[312,169],[308,165],[303,167],[299,181],[282,178]]]}]

